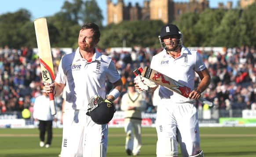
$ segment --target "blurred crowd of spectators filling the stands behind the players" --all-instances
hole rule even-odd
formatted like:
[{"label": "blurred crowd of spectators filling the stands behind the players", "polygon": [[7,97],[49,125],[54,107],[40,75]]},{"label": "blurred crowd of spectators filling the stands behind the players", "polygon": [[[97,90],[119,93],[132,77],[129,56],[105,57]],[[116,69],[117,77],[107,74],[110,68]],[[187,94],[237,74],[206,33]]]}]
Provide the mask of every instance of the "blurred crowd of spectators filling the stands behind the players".
[{"label": "blurred crowd of spectators filling the stands behind the players", "polygon": [[[117,71],[124,83],[121,96],[115,101],[120,110],[120,100],[126,92],[126,82],[135,77],[133,70],[140,66],[150,66],[152,56],[161,49],[133,47],[131,52],[113,51],[102,53],[112,57]],[[55,72],[65,52],[57,49],[53,53]],[[212,77],[212,83],[203,93],[203,97],[212,101],[216,109],[255,109],[256,93],[256,52],[254,47],[241,46],[228,48],[224,53],[201,52]],[[170,67],[175,68],[175,67]],[[196,84],[199,77],[195,77]],[[41,81],[40,63],[37,53],[28,47],[10,49],[0,47],[0,112],[21,112],[28,108],[33,112],[35,98],[40,95],[43,84]],[[106,82],[106,93],[111,86]],[[147,112],[155,112],[152,94],[147,92]],[[56,98],[57,109],[61,110],[62,97]],[[195,102],[197,107],[203,104]]]}]

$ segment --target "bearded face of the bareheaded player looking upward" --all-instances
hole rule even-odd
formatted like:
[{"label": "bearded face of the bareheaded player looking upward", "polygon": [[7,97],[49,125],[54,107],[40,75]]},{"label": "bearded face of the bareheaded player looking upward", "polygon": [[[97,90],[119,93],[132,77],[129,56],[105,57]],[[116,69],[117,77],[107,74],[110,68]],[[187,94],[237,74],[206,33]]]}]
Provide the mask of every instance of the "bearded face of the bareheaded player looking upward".
[{"label": "bearded face of the bareheaded player looking upward", "polygon": [[99,39],[93,37],[94,33],[92,29],[82,29],[79,32],[78,46],[84,51],[93,51],[95,45],[99,42]]}]

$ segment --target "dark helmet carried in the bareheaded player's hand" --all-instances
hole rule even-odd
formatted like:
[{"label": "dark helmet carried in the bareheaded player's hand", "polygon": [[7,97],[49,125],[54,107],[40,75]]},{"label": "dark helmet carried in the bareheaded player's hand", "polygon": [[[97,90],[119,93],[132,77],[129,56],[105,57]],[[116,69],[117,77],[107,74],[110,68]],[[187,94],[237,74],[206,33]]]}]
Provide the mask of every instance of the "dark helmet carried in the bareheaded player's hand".
[{"label": "dark helmet carried in the bareheaded player's hand", "polygon": [[116,108],[109,100],[104,100],[99,95],[91,97],[86,115],[96,124],[107,124],[113,118]]}]

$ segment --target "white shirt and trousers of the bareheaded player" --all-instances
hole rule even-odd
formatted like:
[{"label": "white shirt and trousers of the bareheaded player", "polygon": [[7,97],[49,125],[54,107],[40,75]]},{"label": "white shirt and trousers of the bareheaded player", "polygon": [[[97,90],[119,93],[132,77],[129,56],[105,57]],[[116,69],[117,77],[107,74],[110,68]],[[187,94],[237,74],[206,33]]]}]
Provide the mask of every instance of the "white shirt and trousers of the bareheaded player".
[{"label": "white shirt and trousers of the bareheaded player", "polygon": [[92,96],[105,98],[106,77],[111,83],[120,79],[110,57],[95,49],[91,60],[82,58],[79,48],[63,56],[55,82],[66,84],[61,157],[106,156],[108,125],[98,125],[86,115]]}]

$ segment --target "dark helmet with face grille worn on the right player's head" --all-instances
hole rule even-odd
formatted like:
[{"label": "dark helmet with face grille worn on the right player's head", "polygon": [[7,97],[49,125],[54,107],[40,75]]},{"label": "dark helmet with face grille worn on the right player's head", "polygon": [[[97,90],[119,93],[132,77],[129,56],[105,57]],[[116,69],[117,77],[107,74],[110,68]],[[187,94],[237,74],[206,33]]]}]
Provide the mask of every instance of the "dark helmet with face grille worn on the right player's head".
[{"label": "dark helmet with face grille worn on the right player's head", "polygon": [[[172,36],[172,35],[178,36],[178,39],[177,39],[178,42],[174,44],[175,47],[173,49],[168,49],[168,46],[163,42],[163,38],[166,36]],[[182,34],[179,31],[179,28],[175,24],[166,24],[165,26],[163,26],[161,28],[161,32],[158,38],[162,48],[164,48],[166,51],[177,51],[183,44]],[[173,44],[172,41],[171,41],[171,44]]]}]

